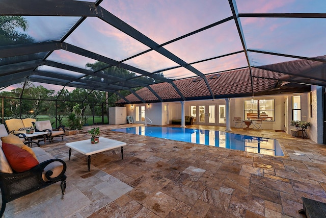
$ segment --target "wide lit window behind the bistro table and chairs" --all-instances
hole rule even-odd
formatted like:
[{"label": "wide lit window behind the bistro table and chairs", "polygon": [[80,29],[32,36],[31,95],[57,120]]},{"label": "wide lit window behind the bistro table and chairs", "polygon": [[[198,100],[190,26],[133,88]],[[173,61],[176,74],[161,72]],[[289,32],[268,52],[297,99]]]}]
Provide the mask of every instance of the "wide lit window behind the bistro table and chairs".
[{"label": "wide lit window behind the bistro table and chairs", "polygon": [[275,100],[244,101],[244,119],[275,121]]}]

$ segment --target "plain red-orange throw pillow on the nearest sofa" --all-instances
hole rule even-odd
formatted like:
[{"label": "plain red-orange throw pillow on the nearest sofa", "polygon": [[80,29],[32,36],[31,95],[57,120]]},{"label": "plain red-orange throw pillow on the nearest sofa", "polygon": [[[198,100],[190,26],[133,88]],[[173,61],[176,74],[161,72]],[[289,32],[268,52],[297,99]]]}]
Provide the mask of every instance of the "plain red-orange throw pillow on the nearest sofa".
[{"label": "plain red-orange throw pillow on the nearest sofa", "polygon": [[38,165],[39,162],[27,151],[9,143],[2,143],[2,149],[11,168],[16,172],[24,172]]}]

